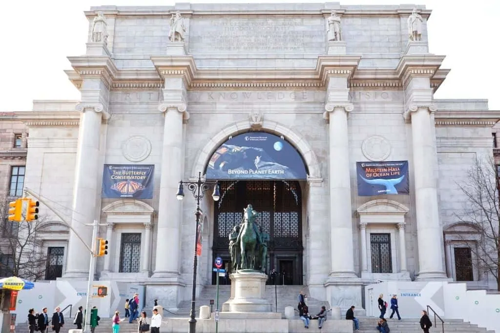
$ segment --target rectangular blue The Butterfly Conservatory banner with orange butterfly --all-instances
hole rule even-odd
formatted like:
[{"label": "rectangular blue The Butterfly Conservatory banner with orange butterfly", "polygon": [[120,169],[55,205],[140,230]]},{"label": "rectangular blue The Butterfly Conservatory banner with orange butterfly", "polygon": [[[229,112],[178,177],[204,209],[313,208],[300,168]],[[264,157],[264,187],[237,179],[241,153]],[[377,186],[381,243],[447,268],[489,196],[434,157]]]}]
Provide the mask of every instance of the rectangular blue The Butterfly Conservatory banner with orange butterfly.
[{"label": "rectangular blue The Butterfly Conservatory banner with orange butterfly", "polygon": [[104,164],[102,198],[153,198],[154,165]]}]

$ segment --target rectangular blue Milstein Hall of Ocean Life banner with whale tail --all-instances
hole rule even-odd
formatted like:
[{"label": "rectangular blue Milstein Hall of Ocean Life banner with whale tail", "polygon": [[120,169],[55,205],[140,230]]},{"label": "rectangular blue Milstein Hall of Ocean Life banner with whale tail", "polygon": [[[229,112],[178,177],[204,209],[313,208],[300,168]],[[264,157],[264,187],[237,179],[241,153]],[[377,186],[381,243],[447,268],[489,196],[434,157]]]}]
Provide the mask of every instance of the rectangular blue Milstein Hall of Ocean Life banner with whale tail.
[{"label": "rectangular blue Milstein Hall of Ocean Life banner with whale tail", "polygon": [[357,195],[409,194],[408,161],[356,162]]}]

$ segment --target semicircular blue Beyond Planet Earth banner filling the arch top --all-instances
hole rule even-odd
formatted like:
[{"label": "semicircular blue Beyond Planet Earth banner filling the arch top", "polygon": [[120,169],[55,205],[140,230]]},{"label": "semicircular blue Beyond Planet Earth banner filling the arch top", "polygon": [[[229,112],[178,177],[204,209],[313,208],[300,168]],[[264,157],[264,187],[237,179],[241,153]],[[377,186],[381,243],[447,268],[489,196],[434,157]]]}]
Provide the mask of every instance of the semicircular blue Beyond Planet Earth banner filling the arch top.
[{"label": "semicircular blue Beyond Planet Earth banner filling the arch top", "polygon": [[213,153],[206,179],[306,179],[302,157],[283,138],[265,132],[236,135]]}]

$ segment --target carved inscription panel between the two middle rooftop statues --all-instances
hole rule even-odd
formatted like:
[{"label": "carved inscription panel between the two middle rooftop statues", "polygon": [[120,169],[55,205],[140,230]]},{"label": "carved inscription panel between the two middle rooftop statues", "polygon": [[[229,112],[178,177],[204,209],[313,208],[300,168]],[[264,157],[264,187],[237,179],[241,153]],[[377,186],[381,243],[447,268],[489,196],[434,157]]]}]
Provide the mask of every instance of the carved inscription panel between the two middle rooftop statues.
[{"label": "carved inscription panel between the two middle rooftop statues", "polygon": [[324,18],[191,18],[189,50],[203,54],[322,54]]}]

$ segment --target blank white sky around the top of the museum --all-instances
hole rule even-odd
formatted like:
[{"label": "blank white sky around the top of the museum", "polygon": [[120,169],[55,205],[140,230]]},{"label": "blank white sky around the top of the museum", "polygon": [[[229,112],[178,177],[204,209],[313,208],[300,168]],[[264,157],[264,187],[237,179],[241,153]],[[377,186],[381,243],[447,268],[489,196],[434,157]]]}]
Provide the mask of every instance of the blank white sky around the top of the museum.
[{"label": "blank white sky around the top of the museum", "polygon": [[[33,99],[79,99],[64,69],[66,56],[85,53],[84,10],[97,5],[171,5],[172,0],[2,1],[0,111],[30,110]],[[308,0],[195,0],[197,3],[307,2]],[[400,4],[404,0],[343,0],[340,4]],[[180,0],[177,2],[188,2]],[[314,2],[322,2],[315,0]],[[500,110],[499,0],[420,0],[432,9],[429,51],[451,68],[435,98],[487,98]],[[347,41],[348,42],[348,41]]]}]

